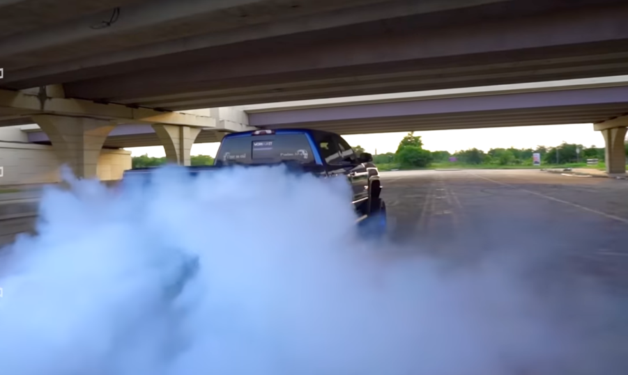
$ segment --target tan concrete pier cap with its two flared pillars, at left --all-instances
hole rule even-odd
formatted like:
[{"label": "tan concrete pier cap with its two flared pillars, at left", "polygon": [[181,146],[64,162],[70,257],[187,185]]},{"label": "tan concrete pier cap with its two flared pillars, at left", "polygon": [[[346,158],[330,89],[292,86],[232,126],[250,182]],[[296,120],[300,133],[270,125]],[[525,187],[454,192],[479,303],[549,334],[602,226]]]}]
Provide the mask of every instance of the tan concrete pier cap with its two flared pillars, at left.
[{"label": "tan concrete pier cap with its two flared pillars, at left", "polygon": [[78,177],[98,175],[98,160],[107,137],[116,127],[128,123],[150,127],[168,159],[189,165],[192,143],[201,131],[205,138],[220,140],[226,132],[250,129],[231,112],[159,111],[96,103],[67,98],[59,85],[39,90],[0,90],[0,126],[35,122],[52,143],[56,158],[68,164]]}]

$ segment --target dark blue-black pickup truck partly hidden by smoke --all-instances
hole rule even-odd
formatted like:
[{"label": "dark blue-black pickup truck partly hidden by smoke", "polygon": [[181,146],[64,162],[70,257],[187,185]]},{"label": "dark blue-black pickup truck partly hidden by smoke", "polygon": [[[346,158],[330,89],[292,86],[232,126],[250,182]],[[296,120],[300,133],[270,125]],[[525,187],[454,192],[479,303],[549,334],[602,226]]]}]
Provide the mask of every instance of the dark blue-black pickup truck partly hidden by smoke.
[{"label": "dark blue-black pickup truck partly hidden by smoke", "polygon": [[[319,177],[344,175],[353,187],[358,223],[369,234],[383,234],[386,206],[379,172],[371,154],[356,155],[338,134],[311,129],[256,130],[224,136],[214,166],[187,167],[190,172],[227,166],[268,166],[284,163],[293,170]],[[128,170],[125,177],[151,168]]]}]

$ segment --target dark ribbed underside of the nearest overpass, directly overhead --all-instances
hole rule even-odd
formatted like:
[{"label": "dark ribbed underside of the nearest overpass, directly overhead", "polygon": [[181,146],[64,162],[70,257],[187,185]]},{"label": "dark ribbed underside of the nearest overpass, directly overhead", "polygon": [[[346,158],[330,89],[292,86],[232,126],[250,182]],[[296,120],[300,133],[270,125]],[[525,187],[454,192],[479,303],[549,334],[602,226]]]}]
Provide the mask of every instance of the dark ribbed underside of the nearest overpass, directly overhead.
[{"label": "dark ribbed underside of the nearest overpass, directly overhead", "polygon": [[13,0],[0,88],[170,111],[628,74],[624,0]]}]

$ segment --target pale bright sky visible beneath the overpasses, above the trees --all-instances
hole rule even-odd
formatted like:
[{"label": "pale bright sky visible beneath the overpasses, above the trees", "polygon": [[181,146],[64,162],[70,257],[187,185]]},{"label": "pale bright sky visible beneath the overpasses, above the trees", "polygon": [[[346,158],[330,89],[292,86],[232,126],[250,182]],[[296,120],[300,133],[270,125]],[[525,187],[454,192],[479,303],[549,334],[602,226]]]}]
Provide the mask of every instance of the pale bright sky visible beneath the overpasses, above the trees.
[{"label": "pale bright sky visible beneath the overpasses, above the trees", "polygon": [[[360,145],[366,152],[383,154],[395,152],[399,141],[407,132],[356,134],[344,136],[349,145]],[[534,148],[537,145],[553,146],[562,143],[579,143],[585,147],[595,145],[604,146],[602,133],[593,130],[592,124],[574,125],[547,125],[533,127],[500,127],[484,129],[457,129],[415,131],[415,136],[421,136],[423,147],[431,151],[456,152],[477,147],[488,151],[497,147]],[[210,155],[215,157],[218,143],[194,143],[192,155]],[[164,157],[164,147],[132,147],[127,148],[132,156],[148,154],[149,157]]]}]

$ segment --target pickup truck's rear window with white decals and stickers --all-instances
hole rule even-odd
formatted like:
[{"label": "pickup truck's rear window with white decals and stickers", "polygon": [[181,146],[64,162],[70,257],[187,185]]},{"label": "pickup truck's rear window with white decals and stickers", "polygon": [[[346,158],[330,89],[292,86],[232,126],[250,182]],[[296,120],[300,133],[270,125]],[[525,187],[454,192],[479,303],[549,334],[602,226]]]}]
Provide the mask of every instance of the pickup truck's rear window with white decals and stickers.
[{"label": "pickup truck's rear window with white decals and stickers", "polygon": [[281,161],[314,163],[314,154],[305,134],[225,137],[216,161],[224,164],[264,164]]}]

